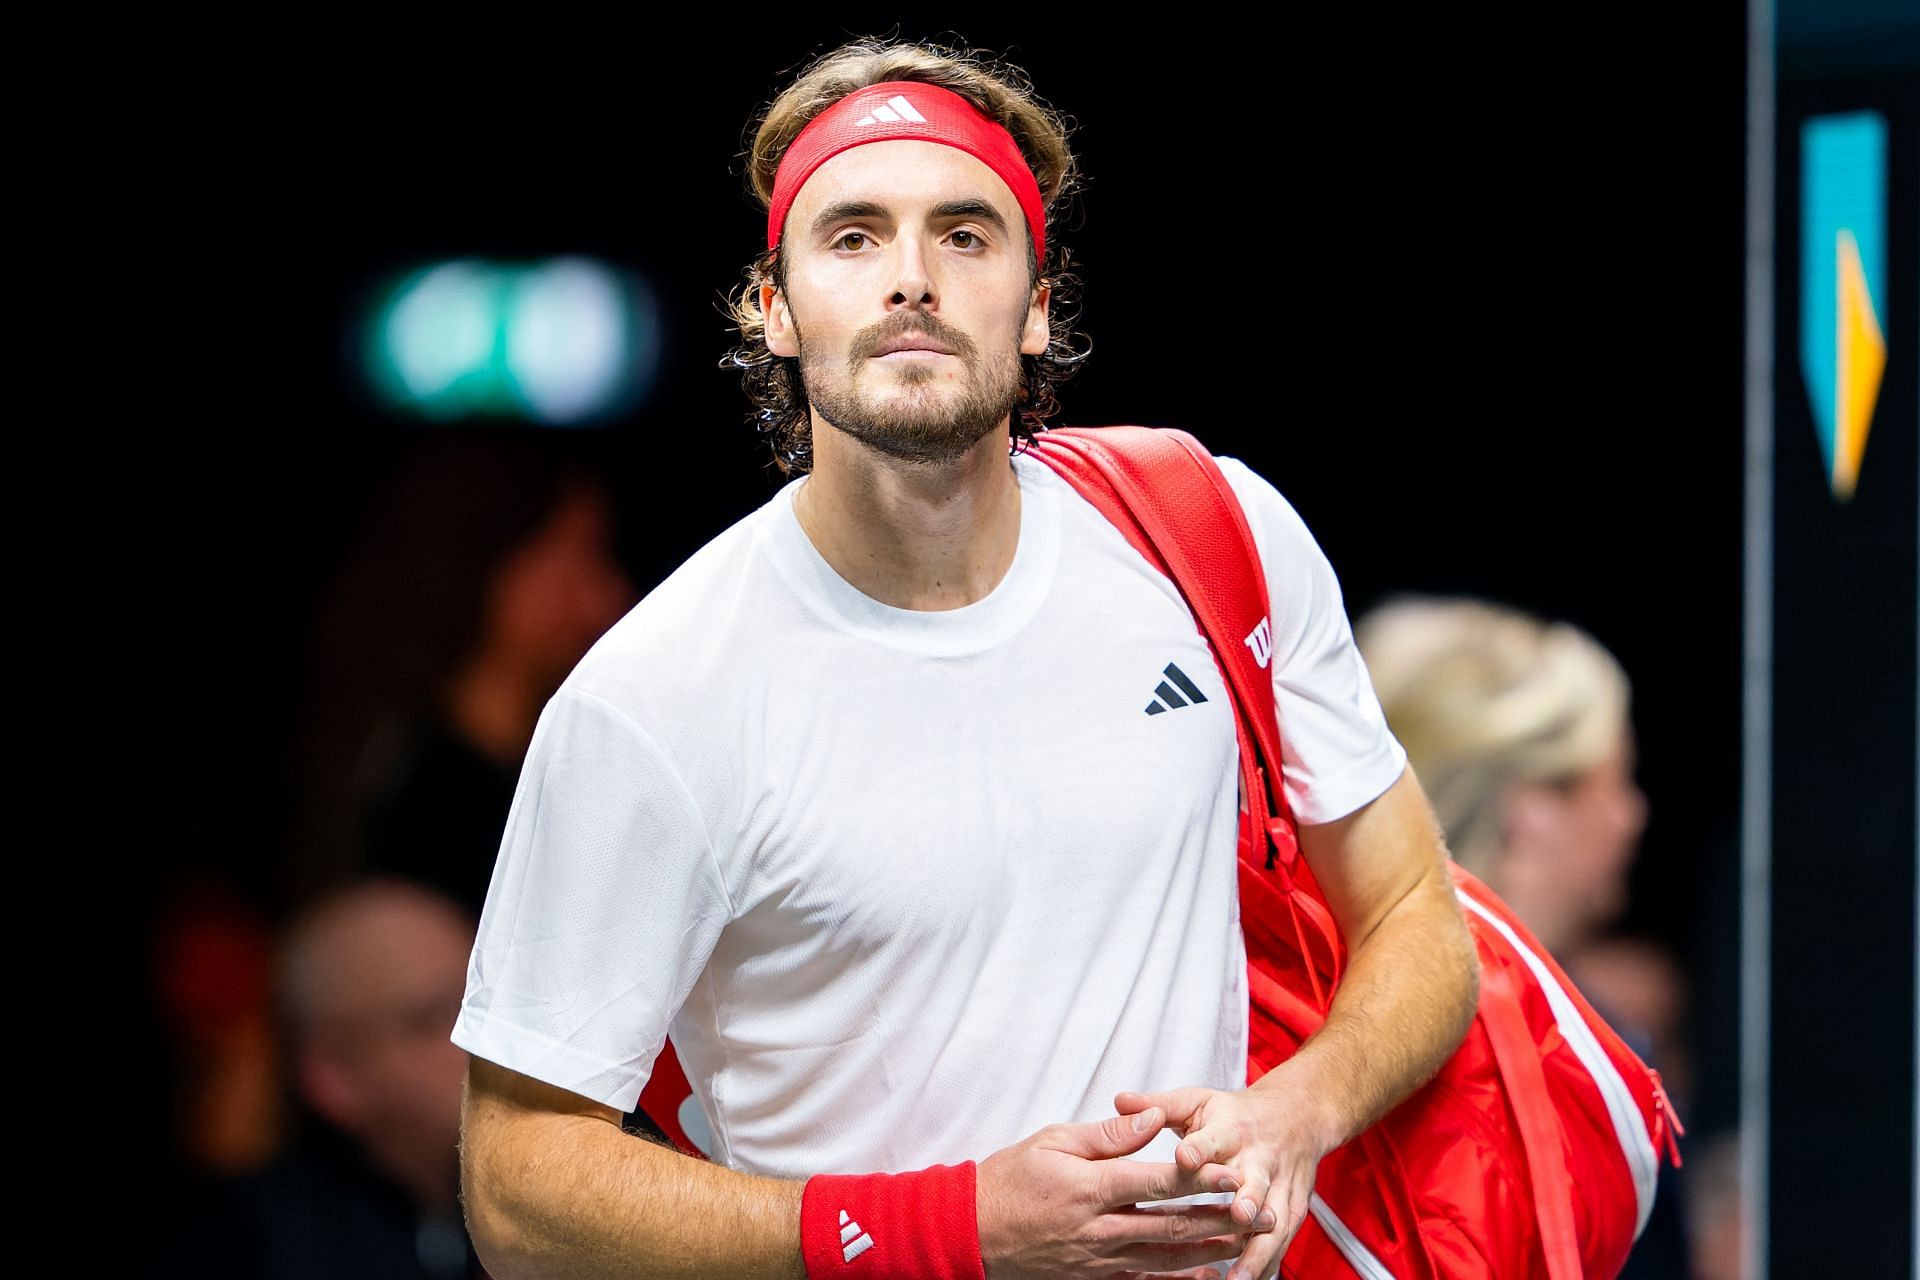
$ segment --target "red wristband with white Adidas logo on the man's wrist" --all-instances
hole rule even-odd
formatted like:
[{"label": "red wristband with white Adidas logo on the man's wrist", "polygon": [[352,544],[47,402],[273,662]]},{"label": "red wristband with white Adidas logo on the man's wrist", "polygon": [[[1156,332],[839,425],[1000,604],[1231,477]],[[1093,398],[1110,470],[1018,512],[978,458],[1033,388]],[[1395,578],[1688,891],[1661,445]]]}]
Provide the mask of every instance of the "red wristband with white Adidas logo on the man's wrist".
[{"label": "red wristband with white Adidas logo on the man's wrist", "polygon": [[918,1173],[824,1173],[801,1192],[808,1280],[987,1280],[973,1161]]}]

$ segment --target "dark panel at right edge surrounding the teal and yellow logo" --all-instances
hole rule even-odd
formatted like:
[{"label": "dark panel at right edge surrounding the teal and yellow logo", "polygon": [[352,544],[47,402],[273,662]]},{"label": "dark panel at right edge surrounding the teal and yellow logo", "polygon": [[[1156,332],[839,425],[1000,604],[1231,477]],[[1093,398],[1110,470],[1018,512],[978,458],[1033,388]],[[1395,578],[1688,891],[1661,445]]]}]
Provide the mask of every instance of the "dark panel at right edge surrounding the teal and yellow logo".
[{"label": "dark panel at right edge surrounding the teal and yellow logo", "polygon": [[[1914,19],[1920,25],[1920,15]],[[1914,1219],[1920,61],[1789,56],[1780,83],[1774,347],[1772,1274],[1818,1274],[1822,1215],[1870,1226],[1855,1274],[1920,1265]],[[1887,123],[1887,372],[1860,487],[1836,503],[1801,380],[1801,127]],[[1868,476],[1866,468],[1874,468]]]}]

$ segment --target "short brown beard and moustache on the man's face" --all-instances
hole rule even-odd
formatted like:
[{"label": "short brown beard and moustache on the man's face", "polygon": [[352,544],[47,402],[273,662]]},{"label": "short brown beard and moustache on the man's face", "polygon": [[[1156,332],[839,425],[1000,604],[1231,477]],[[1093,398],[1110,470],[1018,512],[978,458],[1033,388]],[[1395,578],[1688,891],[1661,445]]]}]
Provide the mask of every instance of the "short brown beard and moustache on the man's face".
[{"label": "short brown beard and moustache on the man's face", "polygon": [[[920,320],[912,319],[916,315]],[[858,390],[870,353],[908,332],[933,338],[960,359],[966,376],[958,397],[945,388],[939,370],[925,365],[883,370],[879,376],[891,384],[891,395],[864,395]],[[847,344],[845,365],[831,353],[808,351],[799,324],[793,326],[793,338],[801,347],[801,388],[814,413],[862,445],[902,462],[952,462],[964,457],[1006,422],[1020,401],[1018,330],[1014,345],[983,357],[979,344],[960,330],[924,313],[902,311],[856,332]]]}]

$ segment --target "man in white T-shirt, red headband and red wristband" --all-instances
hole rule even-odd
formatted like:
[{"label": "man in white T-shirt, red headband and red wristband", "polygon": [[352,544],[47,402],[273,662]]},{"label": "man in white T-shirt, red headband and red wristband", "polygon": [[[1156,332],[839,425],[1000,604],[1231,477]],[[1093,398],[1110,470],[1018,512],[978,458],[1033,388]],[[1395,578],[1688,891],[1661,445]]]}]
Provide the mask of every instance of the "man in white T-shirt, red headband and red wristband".
[{"label": "man in white T-shirt, red headband and red wristband", "polygon": [[[1177,591],[1010,457],[1071,359],[1058,117],[1018,77],[862,42],[774,102],[753,165],[770,253],[737,363],[810,470],[536,729],[453,1031],[480,1255],[1271,1276],[1319,1157],[1446,1059],[1476,983],[1332,570],[1225,461],[1275,591],[1284,785],[1350,946],[1327,1027],[1244,1088],[1229,699]],[[1144,714],[1165,679],[1202,697]],[[668,1027],[714,1163],[620,1132]]]}]

